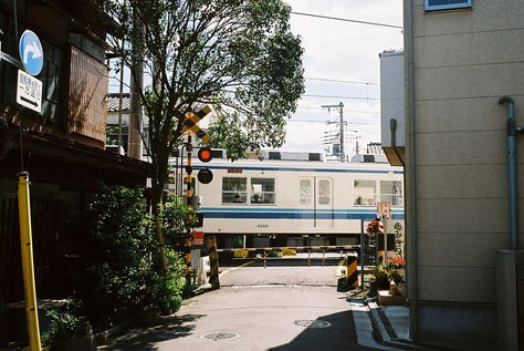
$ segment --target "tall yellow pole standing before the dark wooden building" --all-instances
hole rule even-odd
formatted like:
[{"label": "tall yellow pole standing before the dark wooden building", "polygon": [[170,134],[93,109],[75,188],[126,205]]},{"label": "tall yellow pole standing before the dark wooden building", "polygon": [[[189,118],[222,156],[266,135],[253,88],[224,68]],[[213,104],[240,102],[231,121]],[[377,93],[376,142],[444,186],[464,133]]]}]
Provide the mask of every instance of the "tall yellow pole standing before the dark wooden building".
[{"label": "tall yellow pole standing before the dark wooden building", "polygon": [[23,288],[25,293],[25,317],[28,319],[29,348],[42,350],[40,343],[36,290],[34,287],[33,247],[31,244],[31,208],[29,202],[29,174],[19,173],[18,210],[20,218],[20,247],[22,250]]}]

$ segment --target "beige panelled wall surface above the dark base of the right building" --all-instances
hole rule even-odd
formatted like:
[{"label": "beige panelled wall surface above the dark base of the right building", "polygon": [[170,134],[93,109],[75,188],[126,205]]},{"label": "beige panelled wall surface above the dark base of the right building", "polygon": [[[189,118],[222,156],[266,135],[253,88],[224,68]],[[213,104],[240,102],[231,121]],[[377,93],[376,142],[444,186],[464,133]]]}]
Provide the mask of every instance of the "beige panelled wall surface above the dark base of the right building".
[{"label": "beige panelled wall surface above the dark base of the right building", "polygon": [[[495,249],[510,231],[507,106],[497,101],[512,96],[524,124],[524,7],[476,0],[425,13],[416,0],[412,13],[418,299],[494,303]],[[524,136],[517,145],[524,195]]]}]

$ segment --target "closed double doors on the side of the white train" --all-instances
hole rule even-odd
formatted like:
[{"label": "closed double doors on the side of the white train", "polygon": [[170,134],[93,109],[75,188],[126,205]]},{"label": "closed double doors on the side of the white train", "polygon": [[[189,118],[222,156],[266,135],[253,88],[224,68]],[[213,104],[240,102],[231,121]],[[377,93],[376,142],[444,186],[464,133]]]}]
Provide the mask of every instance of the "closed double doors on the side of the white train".
[{"label": "closed double doors on the side of the white train", "polygon": [[332,178],[301,177],[300,207],[301,229],[332,228]]}]

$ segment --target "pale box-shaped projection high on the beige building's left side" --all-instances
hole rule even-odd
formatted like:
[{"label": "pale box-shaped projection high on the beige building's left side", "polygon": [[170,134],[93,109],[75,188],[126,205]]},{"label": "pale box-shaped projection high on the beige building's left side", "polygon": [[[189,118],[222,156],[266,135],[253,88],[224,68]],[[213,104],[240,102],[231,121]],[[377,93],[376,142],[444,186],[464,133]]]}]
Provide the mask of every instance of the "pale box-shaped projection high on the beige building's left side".
[{"label": "pale box-shaped projection high on the beige building's left side", "polygon": [[404,52],[387,51],[380,58],[380,126],[384,152],[392,166],[406,163]]}]

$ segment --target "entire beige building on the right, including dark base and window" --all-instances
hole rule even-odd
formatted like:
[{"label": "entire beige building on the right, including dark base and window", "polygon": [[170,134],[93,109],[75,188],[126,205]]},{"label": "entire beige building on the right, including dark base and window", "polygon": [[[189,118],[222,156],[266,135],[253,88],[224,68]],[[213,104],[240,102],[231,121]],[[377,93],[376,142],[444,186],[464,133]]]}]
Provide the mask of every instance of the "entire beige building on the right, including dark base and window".
[{"label": "entire beige building on the right, including dark base and window", "polygon": [[[410,333],[417,342],[493,350],[496,338],[516,338],[505,334],[511,328],[496,332],[495,257],[511,248],[509,106],[500,99],[511,96],[524,123],[524,7],[404,3]],[[515,292],[500,297],[516,310]]]}]

